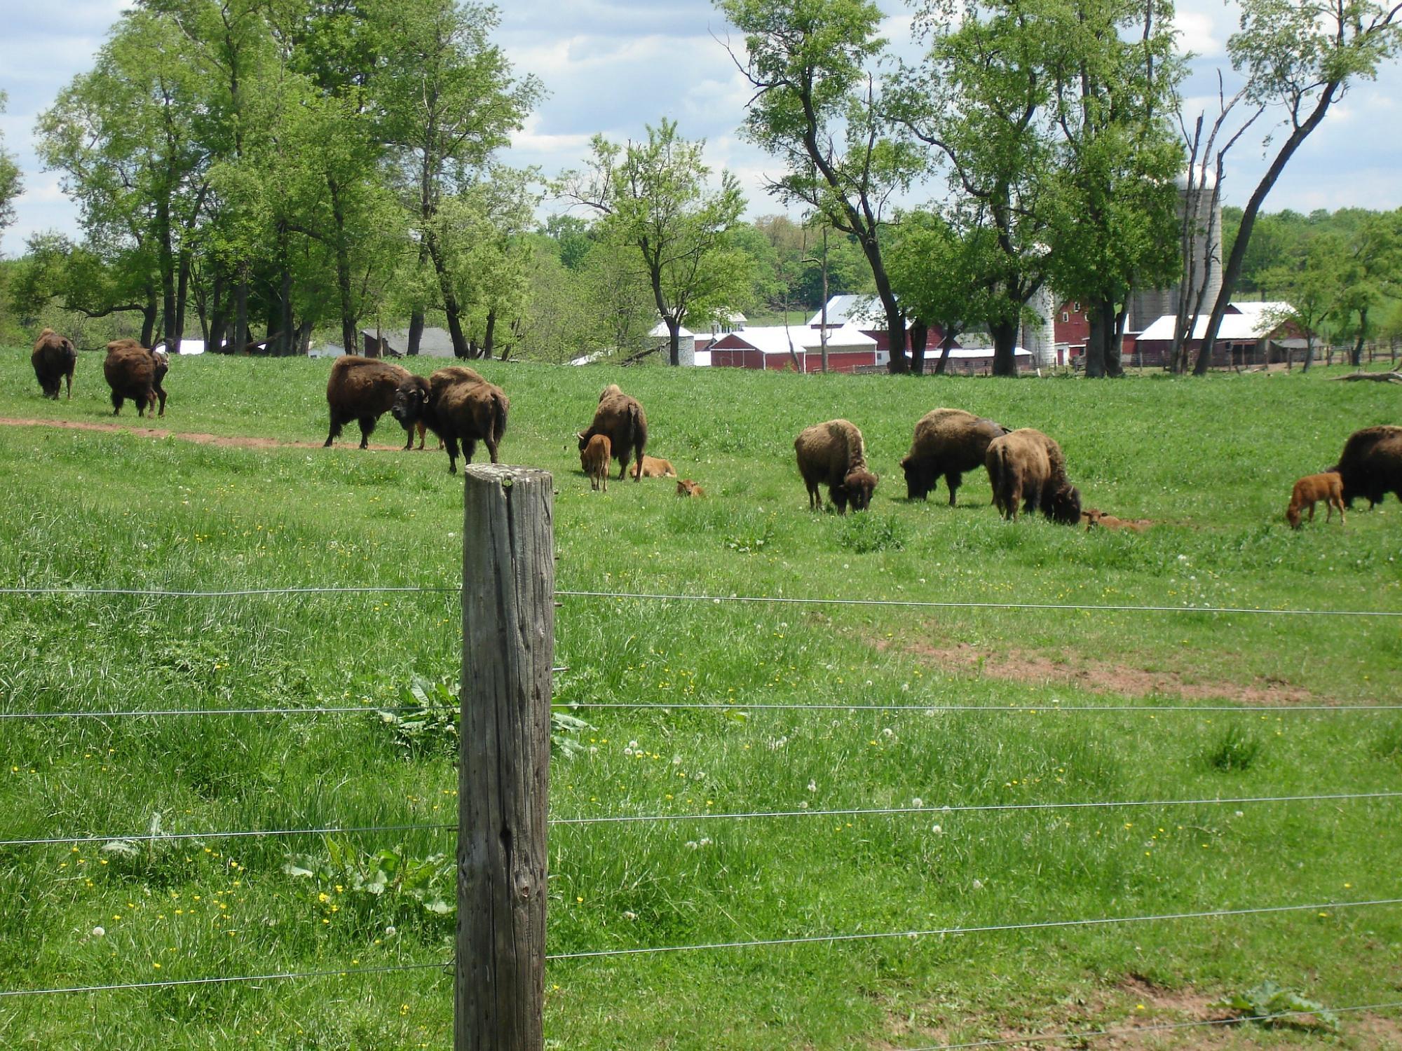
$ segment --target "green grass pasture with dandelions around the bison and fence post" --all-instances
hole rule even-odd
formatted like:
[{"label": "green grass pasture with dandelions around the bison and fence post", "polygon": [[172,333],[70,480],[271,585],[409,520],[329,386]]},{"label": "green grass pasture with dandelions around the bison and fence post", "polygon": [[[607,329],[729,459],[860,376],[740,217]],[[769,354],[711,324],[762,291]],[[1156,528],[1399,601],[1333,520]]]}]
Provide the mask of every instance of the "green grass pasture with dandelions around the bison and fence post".
[{"label": "green grass pasture with dandelions around the bison and fence post", "polygon": [[[100,366],[84,355],[52,402],[4,350],[0,418],[111,422]],[[318,448],[328,370],[175,360],[151,426],[224,444],[0,426],[0,586],[451,584],[461,482],[442,453],[388,448],[388,416],[386,448]],[[481,371],[512,399],[503,460],[555,472],[561,590],[1402,611],[1396,502],[1284,523],[1294,478],[1402,422],[1387,385]],[[707,499],[590,492],[573,432],[610,381]],[[899,460],[937,405],[1046,430],[1087,504],[1159,524],[1004,524],[983,472],[953,510],[942,486],[908,503]],[[794,434],[838,415],[882,475],[864,516],[806,511],[792,462]],[[130,406],[118,422],[147,426]],[[0,720],[0,839],[453,823],[451,748],[376,710],[415,677],[453,680],[458,649],[451,593],[0,596],[6,713],[367,709]],[[1396,619],[572,597],[557,657],[561,701],[733,708],[579,709],[552,817],[923,813],[555,827],[551,954],[1402,897],[1395,799],[939,811],[1399,790],[1402,712],[1346,710],[1402,705]],[[965,705],[981,710],[946,710]],[[0,998],[0,1045],[447,1047],[453,851],[425,828],[0,846],[0,991],[332,973]],[[359,973],[380,967],[416,970]],[[1265,980],[1335,1008],[1402,1001],[1402,912],[555,960],[545,1022],[571,1050],[924,1048],[1221,1017],[1209,1001]],[[1381,1048],[1398,1017],[1088,1045]]]}]

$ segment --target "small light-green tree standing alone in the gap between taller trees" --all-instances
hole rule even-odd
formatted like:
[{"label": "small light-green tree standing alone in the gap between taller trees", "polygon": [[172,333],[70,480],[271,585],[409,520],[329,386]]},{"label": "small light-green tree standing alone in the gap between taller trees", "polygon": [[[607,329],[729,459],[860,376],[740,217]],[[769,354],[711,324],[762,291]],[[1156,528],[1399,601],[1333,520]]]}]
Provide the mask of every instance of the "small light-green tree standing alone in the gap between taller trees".
[{"label": "small light-green tree standing alone in the gap between taller trees", "polygon": [[646,142],[617,146],[594,136],[587,171],[562,177],[565,196],[594,209],[608,237],[641,254],[672,364],[680,363],[686,318],[728,314],[750,287],[749,256],[729,237],[744,195],[729,171],[719,188],[707,185],[704,146],[680,139],[676,122],[663,118],[648,126]]}]

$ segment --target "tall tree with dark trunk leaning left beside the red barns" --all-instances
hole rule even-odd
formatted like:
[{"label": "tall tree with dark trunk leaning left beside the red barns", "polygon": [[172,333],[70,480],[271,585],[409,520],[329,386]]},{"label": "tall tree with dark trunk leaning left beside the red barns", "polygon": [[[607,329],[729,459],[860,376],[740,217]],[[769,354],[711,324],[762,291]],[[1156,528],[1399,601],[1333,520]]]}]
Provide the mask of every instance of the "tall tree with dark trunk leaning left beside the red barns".
[{"label": "tall tree with dark trunk leaning left beside the red barns", "polygon": [[871,0],[718,0],[718,7],[744,34],[747,57],[736,64],[756,88],[746,133],[788,167],[770,191],[857,240],[886,314],[890,371],[908,371],[906,320],[882,245],[887,202],[923,163],[889,135],[868,70],[885,46],[876,35],[880,11]]}]

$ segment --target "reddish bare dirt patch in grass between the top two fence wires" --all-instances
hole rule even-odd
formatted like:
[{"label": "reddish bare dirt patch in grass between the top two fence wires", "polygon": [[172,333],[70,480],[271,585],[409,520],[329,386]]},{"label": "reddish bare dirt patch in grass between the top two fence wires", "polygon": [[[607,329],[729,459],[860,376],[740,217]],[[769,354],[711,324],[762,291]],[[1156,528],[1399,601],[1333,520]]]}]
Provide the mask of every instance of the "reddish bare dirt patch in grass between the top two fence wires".
[{"label": "reddish bare dirt patch in grass between the top two fence wires", "polygon": [[1141,668],[1075,653],[1063,653],[1053,659],[1035,650],[991,650],[967,642],[953,646],[934,646],[910,639],[878,639],[875,645],[879,650],[897,646],[945,671],[1035,685],[1074,685],[1088,694],[1158,695],[1185,701],[1235,701],[1251,705],[1319,703],[1323,701],[1302,687],[1274,677],[1258,678],[1252,682],[1190,681],[1180,671]]}]

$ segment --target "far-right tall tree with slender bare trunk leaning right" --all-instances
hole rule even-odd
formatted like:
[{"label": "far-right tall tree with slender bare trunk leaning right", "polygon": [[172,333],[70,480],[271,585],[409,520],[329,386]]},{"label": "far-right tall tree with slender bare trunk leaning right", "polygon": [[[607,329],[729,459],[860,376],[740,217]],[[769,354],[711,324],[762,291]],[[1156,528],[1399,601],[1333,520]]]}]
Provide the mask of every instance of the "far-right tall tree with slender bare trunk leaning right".
[{"label": "far-right tall tree with slender bare trunk leaning right", "polygon": [[1359,80],[1371,80],[1396,53],[1402,6],[1374,0],[1242,0],[1241,28],[1227,42],[1232,67],[1246,77],[1246,98],[1280,107],[1288,133],[1242,210],[1241,227],[1223,269],[1223,286],[1207,321],[1193,373],[1211,360],[1227,304],[1237,290],[1252,228],[1266,195],[1329,108]]}]

